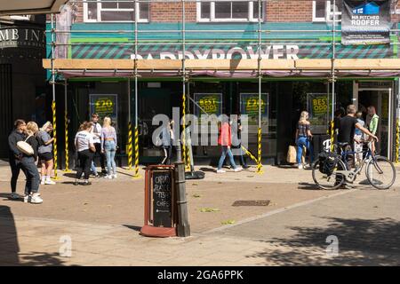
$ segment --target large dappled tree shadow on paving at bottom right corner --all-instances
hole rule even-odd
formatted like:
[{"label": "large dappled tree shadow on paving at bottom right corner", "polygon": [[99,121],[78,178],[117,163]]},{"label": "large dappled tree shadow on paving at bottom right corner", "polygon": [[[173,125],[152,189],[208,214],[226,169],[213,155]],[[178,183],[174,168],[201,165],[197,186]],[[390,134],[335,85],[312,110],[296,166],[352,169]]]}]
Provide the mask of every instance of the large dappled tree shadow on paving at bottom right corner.
[{"label": "large dappled tree shadow on paving at bottom right corner", "polygon": [[[400,223],[396,220],[326,219],[326,227],[290,227],[294,235],[268,241],[272,248],[248,257],[262,257],[276,265],[400,264]],[[337,247],[332,243],[335,238]],[[327,253],[335,247],[337,256]]]}]

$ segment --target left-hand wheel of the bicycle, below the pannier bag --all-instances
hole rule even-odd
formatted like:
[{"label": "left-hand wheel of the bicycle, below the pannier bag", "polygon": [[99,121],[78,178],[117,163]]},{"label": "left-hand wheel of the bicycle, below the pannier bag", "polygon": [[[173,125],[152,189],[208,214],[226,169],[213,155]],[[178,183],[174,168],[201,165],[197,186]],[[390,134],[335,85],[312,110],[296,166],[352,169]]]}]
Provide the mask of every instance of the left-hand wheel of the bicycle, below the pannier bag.
[{"label": "left-hand wheel of the bicycle, below the pannier bag", "polygon": [[312,171],[313,171],[313,180],[322,189],[337,189],[340,187],[340,185],[343,185],[345,182],[345,177],[341,174],[336,174],[337,170],[345,170],[346,166],[344,162],[339,160],[332,172],[332,175],[328,176],[324,173],[322,173],[319,170],[319,159],[314,162],[312,166]]}]

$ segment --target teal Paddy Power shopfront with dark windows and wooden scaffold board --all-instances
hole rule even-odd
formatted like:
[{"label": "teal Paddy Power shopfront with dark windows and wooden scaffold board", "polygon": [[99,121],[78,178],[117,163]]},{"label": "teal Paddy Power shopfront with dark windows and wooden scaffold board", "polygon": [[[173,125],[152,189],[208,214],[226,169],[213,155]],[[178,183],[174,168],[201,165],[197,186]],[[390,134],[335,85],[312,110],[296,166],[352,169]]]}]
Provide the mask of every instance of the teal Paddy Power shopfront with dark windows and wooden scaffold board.
[{"label": "teal Paddy Power shopfront with dark windows and wooden scaffold board", "polygon": [[[59,80],[68,80],[68,98],[71,98],[68,110],[73,130],[89,119],[93,111],[99,112],[96,110],[99,105],[100,112],[114,115],[121,141],[120,154],[125,156],[129,122],[135,122],[137,105],[140,161],[158,161],[160,150],[151,138],[156,126],[151,121],[154,114],[172,117],[173,107],[180,107],[182,113],[182,77],[185,77],[186,114],[249,115],[248,148],[253,154],[260,152],[264,162],[285,161],[287,148],[294,143],[301,111],[308,110],[316,136],[326,135],[332,111],[348,104],[376,106],[381,117],[378,149],[393,158],[395,90],[400,70],[397,67],[387,70],[382,62],[373,61],[377,62],[375,70],[372,66],[375,63],[368,60],[398,59],[396,35],[390,36],[393,44],[344,45],[332,37],[328,22],[262,21],[259,41],[257,19],[216,25],[196,21],[188,12],[188,19],[192,18],[183,25],[179,9],[164,12],[171,19],[174,15],[172,20],[164,20],[156,17],[163,11],[153,9],[156,7],[152,5],[147,4],[145,9],[148,18],[140,18],[136,23],[102,22],[111,12],[101,10],[101,4],[96,4],[100,13],[98,10],[95,19],[70,25],[57,23],[64,36],[56,36],[56,42],[63,52],[56,52],[54,59],[60,59],[56,67]],[[87,9],[90,10],[89,5]],[[47,28],[51,30],[51,23]],[[50,50],[50,38],[48,44]],[[338,62],[361,60],[333,67],[334,96],[332,46],[336,47],[334,55]],[[260,69],[258,60],[260,65],[264,64]],[[211,62],[210,68],[196,68],[196,62],[201,65],[204,61]],[[221,64],[229,62],[228,68],[216,67],[222,61],[225,63]],[[49,62],[45,67],[50,69]],[[368,82],[372,82],[370,87],[366,85]],[[385,87],[372,87],[377,83]],[[218,157],[219,147],[211,146],[215,139],[210,137],[209,144],[194,147],[196,162],[210,163]]]}]

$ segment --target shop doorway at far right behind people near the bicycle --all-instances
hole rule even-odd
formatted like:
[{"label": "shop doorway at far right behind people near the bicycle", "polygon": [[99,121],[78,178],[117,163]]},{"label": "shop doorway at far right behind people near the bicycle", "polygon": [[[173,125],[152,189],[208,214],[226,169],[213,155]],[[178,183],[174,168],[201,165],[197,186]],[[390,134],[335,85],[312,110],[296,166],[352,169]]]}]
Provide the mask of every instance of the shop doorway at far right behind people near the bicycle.
[{"label": "shop doorway at far right behind people near the bicycle", "polygon": [[[380,117],[376,136],[380,139],[376,143],[377,154],[391,158],[392,122],[391,109],[392,89],[359,89],[358,110],[363,112],[364,122],[367,122],[367,107],[375,106],[376,114]],[[367,127],[368,125],[365,124]]]}]

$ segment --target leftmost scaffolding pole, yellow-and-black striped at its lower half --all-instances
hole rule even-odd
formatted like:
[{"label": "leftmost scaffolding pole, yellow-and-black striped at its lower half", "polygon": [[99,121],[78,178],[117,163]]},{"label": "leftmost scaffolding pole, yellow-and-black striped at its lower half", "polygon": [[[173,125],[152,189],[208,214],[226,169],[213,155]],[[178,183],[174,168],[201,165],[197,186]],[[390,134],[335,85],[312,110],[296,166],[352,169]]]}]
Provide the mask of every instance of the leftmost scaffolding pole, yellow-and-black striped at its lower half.
[{"label": "leftmost scaffolding pole, yellow-and-black striped at its lower half", "polygon": [[59,179],[57,175],[57,168],[58,168],[58,153],[57,153],[57,119],[56,119],[56,90],[55,90],[55,69],[54,69],[54,54],[55,54],[55,46],[56,46],[56,39],[55,36],[55,28],[54,28],[54,14],[52,13],[52,127],[53,127],[53,155],[54,155],[54,177],[53,179]]}]

